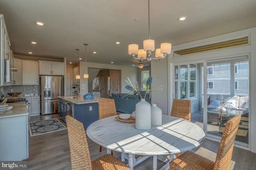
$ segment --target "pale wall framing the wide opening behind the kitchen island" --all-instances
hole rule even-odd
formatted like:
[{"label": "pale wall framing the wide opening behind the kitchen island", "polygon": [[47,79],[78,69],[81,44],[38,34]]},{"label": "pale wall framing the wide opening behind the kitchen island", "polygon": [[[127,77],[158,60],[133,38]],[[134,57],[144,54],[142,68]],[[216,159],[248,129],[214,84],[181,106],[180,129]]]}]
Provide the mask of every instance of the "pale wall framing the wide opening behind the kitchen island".
[{"label": "pale wall framing the wide opening behind the kitchen island", "polygon": [[[88,63],[87,67],[90,68],[106,68],[106,69],[114,69],[121,70],[122,74],[122,89],[120,93],[128,93],[130,91],[126,90],[124,86],[127,85],[126,79],[129,77],[132,83],[136,84],[136,80],[138,79],[137,72],[138,69],[136,67],[127,67],[127,66],[118,66],[114,64],[100,64],[100,63]],[[85,62],[80,62],[80,74],[83,75],[85,73]],[[90,75],[89,75],[90,76]],[[83,89],[85,88],[85,89]],[[80,79],[80,95],[84,95],[88,92],[88,82],[87,79],[81,76]]]}]

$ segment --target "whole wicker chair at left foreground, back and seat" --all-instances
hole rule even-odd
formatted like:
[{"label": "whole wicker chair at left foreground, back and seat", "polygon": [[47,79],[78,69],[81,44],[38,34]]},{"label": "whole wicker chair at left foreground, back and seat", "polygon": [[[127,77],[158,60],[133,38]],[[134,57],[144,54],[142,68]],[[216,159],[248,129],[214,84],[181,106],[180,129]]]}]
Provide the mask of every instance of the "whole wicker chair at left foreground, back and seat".
[{"label": "whole wicker chair at left foreground, back and seat", "polygon": [[68,140],[72,170],[131,170],[111,154],[91,161],[84,125],[67,115]]}]

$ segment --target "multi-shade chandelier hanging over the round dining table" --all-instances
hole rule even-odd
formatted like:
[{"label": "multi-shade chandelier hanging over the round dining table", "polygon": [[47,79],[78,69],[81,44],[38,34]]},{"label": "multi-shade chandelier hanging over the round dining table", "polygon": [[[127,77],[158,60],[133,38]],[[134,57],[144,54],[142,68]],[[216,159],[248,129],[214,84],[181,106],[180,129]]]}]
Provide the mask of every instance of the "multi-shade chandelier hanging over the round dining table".
[{"label": "multi-shade chandelier hanging over the round dining table", "polygon": [[[160,61],[171,53],[172,44],[162,43],[160,49],[156,49],[156,58],[151,57],[151,52],[155,50],[155,41],[150,39],[150,12],[149,12],[149,0],[148,0],[148,39],[143,41],[143,49],[139,49],[138,44],[130,44],[128,46],[128,53],[132,55],[134,59],[140,61]],[[144,51],[144,52],[142,52]],[[138,55],[138,57],[136,57]]]}]

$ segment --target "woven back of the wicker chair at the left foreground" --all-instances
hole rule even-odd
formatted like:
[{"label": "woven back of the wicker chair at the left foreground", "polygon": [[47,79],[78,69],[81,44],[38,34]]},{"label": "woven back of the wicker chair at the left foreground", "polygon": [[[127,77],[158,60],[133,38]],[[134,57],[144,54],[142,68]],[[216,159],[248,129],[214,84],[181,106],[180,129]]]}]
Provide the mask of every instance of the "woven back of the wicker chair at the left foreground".
[{"label": "woven back of the wicker chair at the left foreground", "polygon": [[69,115],[66,116],[66,123],[72,170],[92,170],[84,125]]}]

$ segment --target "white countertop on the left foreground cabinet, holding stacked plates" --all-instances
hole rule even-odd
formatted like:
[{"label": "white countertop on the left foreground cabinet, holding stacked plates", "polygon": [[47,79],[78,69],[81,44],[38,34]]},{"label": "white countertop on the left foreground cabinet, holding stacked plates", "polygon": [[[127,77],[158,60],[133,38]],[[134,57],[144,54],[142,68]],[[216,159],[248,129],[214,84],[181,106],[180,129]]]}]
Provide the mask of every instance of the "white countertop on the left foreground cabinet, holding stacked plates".
[{"label": "white countertop on the left foreground cabinet, holding stacked plates", "polygon": [[0,114],[0,119],[7,117],[16,117],[28,115],[28,109],[25,102],[20,103],[8,103],[8,106],[13,106],[11,110],[5,111],[3,114]]}]

